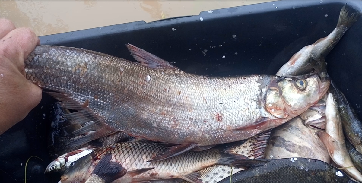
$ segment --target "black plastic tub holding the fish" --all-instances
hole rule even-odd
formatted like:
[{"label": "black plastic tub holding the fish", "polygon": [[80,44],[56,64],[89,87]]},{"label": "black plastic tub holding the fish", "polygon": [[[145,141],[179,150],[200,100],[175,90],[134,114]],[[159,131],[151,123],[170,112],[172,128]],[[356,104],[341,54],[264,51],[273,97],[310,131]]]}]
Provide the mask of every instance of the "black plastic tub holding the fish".
[{"label": "black plastic tub holding the fish", "polygon": [[[185,72],[232,76],[275,74],[300,48],[327,36],[344,3],[361,0],[282,0],[201,12],[197,16],[98,27],[40,37],[41,44],[84,48],[135,61],[130,43]],[[328,72],[362,117],[362,18],[327,56]],[[51,162],[46,131],[54,99],[43,94],[30,114],[0,136],[0,182],[57,183],[45,175]]]}]

